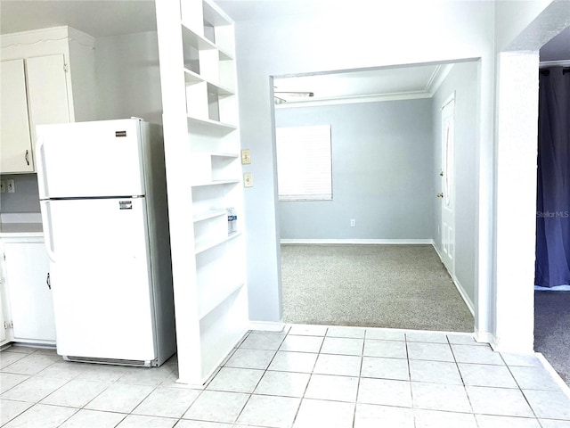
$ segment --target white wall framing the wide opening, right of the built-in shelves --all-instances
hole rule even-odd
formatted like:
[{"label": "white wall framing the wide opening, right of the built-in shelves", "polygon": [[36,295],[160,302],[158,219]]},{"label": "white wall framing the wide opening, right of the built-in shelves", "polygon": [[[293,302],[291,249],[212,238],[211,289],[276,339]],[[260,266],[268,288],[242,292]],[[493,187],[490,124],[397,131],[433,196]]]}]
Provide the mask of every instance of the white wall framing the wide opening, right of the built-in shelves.
[{"label": "white wall framing the wide opening, right of the built-in shelves", "polygon": [[[494,6],[491,2],[371,5],[356,1],[325,8],[304,2],[294,16],[276,13],[273,20],[256,21],[256,2],[219,4],[231,16],[240,12],[234,16],[244,20],[236,23],[236,56],[241,141],[252,157],[245,170],[253,173],[255,183],[245,193],[249,315],[255,321],[279,322],[281,268],[270,76],[480,57],[478,135],[484,149],[478,148],[477,158],[491,163]],[[303,4],[314,8],[305,13]],[[478,191],[488,197],[487,190]],[[479,324],[488,328],[486,318]]]}]

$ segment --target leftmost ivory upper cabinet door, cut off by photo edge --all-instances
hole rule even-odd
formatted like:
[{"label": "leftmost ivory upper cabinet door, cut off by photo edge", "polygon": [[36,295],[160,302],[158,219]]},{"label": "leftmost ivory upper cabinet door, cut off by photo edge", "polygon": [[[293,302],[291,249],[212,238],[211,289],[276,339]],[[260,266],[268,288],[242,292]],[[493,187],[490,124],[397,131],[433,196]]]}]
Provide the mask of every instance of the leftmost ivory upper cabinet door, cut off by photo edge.
[{"label": "leftmost ivory upper cabinet door, cut off by photo edge", "polygon": [[0,172],[33,172],[24,60],[0,63]]}]

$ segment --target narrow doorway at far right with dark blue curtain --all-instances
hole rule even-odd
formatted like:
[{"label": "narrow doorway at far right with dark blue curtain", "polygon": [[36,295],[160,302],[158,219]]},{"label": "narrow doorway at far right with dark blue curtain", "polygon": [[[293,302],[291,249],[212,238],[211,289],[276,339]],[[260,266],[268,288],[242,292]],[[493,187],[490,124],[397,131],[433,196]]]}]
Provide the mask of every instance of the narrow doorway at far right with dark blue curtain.
[{"label": "narrow doorway at far right with dark blue curtain", "polygon": [[[570,385],[570,27],[540,50],[534,350]],[[565,107],[566,106],[566,107]]]}]

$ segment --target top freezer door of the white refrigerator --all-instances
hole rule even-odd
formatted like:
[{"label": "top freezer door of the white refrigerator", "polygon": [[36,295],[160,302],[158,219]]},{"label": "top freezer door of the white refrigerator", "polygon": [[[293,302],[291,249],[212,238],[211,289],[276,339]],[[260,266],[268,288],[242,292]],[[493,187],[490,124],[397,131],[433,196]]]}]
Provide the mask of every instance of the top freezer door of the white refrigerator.
[{"label": "top freezer door of the white refrigerator", "polygon": [[138,119],[38,126],[39,198],[145,194],[140,128]]}]

